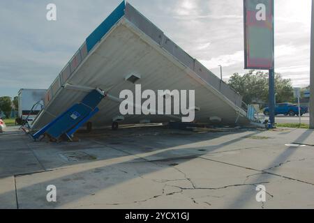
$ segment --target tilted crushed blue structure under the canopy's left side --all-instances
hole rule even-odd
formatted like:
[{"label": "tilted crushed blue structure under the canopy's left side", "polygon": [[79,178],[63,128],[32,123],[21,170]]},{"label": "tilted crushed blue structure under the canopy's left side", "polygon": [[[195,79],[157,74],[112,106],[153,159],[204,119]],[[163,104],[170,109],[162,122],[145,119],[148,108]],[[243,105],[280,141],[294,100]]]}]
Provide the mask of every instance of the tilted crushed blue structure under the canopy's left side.
[{"label": "tilted crushed blue structure under the canopy's left side", "polygon": [[105,98],[104,91],[100,89],[91,91],[82,102],[73,105],[38,132],[32,134],[33,140],[36,141],[45,135],[54,141],[59,140],[62,136],[72,140],[73,134],[99,112],[97,106],[103,98]]}]

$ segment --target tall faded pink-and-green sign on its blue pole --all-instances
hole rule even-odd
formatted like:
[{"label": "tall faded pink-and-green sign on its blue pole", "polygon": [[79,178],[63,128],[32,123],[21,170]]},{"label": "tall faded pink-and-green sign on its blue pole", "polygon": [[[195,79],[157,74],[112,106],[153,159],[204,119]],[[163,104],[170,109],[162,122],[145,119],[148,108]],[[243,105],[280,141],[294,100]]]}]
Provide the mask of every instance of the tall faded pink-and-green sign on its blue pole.
[{"label": "tall faded pink-and-green sign on its blue pole", "polygon": [[244,0],[245,69],[269,71],[269,122],[275,125],[274,0]]}]

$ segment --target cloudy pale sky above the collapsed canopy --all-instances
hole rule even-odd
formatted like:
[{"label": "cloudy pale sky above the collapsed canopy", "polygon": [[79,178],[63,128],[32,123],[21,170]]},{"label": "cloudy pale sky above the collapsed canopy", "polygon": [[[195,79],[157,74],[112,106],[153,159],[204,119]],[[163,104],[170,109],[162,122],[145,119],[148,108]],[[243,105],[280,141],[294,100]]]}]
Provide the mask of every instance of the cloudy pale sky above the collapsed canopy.
[{"label": "cloudy pale sky above the collapsed canopy", "polygon": [[[47,89],[121,0],[0,0],[0,95]],[[243,0],[130,0],[188,54],[224,79],[244,73]],[[57,21],[46,20],[48,3]],[[311,0],[275,0],[276,72],[309,84]]]}]

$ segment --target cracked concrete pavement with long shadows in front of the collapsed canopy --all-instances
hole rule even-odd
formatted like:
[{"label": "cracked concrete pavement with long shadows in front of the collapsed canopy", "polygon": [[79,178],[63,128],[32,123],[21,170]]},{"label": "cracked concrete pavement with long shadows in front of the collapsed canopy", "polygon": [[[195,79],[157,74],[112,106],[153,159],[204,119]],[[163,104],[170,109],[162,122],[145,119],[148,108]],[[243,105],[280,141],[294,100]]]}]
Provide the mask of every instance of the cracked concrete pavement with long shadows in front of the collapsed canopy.
[{"label": "cracked concrete pavement with long shadows in front of the collapsed canopy", "polygon": [[[285,146],[313,145],[313,136],[154,127],[52,144],[12,129],[0,137],[0,208],[314,208],[313,147]],[[47,202],[47,185],[57,187],[56,203]],[[266,187],[265,202],[255,199],[257,185]]]}]

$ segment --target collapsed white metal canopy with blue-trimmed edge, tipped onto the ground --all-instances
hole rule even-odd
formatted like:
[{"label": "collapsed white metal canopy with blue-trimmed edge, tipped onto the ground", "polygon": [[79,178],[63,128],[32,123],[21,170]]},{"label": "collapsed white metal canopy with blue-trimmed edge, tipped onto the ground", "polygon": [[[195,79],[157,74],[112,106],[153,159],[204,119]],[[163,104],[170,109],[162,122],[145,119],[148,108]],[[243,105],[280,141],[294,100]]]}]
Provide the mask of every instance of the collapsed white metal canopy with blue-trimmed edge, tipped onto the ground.
[{"label": "collapsed white metal canopy with blue-trimmed edge, tipped onto the ground", "polygon": [[[142,91],[195,90],[195,106],[200,107],[195,113],[196,122],[209,123],[210,118],[218,117],[225,125],[249,123],[241,109],[241,95],[167,38],[133,6],[122,2],[91,33],[50,86],[45,108],[33,122],[32,130],[42,128],[82,100],[89,88],[110,89],[91,122],[96,127],[111,124],[120,116],[119,93],[124,89],[135,92],[135,84],[125,80],[130,74],[140,75],[136,84],[142,84]],[[127,115],[123,123],[143,120],[160,123],[179,121],[181,117]]]}]

